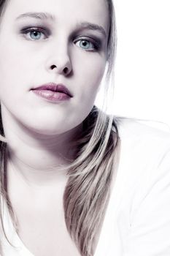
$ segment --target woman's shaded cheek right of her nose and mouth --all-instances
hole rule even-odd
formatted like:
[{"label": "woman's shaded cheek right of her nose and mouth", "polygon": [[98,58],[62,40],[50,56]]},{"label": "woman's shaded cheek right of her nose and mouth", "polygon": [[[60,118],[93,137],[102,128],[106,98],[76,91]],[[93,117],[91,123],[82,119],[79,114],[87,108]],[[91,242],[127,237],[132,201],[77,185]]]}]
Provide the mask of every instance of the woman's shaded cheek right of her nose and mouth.
[{"label": "woman's shaded cheek right of her nose and mouth", "polygon": [[105,67],[106,61],[98,55],[90,61],[84,61],[74,74],[77,79],[73,113],[77,115],[79,122],[83,121],[93,108]]}]

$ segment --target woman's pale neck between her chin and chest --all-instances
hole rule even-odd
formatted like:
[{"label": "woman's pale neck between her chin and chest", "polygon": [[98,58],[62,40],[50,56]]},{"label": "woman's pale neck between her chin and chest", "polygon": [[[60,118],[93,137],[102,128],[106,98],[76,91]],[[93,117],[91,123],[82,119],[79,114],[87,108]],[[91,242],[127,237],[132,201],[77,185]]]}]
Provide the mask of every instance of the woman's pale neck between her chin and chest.
[{"label": "woman's pale neck between her chin and chest", "polygon": [[8,123],[5,118],[3,127],[7,138],[9,177],[19,175],[19,179],[28,186],[51,187],[59,178],[66,176],[60,167],[74,159],[72,139],[82,129],[81,125],[62,135],[42,135],[23,127],[17,121],[10,120]]}]

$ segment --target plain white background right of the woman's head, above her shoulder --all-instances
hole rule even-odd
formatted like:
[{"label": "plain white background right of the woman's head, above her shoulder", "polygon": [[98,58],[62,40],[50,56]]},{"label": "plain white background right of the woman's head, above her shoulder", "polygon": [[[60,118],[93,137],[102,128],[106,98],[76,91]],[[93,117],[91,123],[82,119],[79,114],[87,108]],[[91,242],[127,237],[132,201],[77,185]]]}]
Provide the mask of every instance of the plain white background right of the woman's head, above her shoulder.
[{"label": "plain white background right of the woman's head, above her shoulder", "polygon": [[117,116],[170,127],[170,0],[115,0]]}]

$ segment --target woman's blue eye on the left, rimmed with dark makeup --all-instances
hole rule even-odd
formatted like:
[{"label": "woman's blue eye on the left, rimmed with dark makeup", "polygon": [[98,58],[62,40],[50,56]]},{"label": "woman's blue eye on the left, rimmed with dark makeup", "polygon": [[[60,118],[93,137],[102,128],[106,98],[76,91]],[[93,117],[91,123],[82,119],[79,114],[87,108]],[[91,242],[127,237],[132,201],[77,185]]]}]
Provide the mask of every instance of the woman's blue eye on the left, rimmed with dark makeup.
[{"label": "woman's blue eye on the left, rimmed with dark makeup", "polygon": [[42,28],[28,28],[22,29],[20,34],[23,34],[23,37],[26,37],[28,40],[39,41],[44,40],[49,37],[50,33]]}]

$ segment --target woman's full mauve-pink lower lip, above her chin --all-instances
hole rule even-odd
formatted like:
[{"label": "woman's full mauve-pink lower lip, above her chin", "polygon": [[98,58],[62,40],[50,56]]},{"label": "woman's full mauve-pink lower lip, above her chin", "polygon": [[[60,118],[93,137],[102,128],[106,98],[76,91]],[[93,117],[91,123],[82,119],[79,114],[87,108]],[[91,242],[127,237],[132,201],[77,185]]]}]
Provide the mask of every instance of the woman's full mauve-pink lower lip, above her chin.
[{"label": "woman's full mauve-pink lower lip, above her chin", "polygon": [[60,102],[66,99],[70,99],[69,95],[64,94],[63,92],[56,92],[50,90],[32,90],[34,94],[38,95],[39,97],[45,98],[50,100],[51,102]]}]

